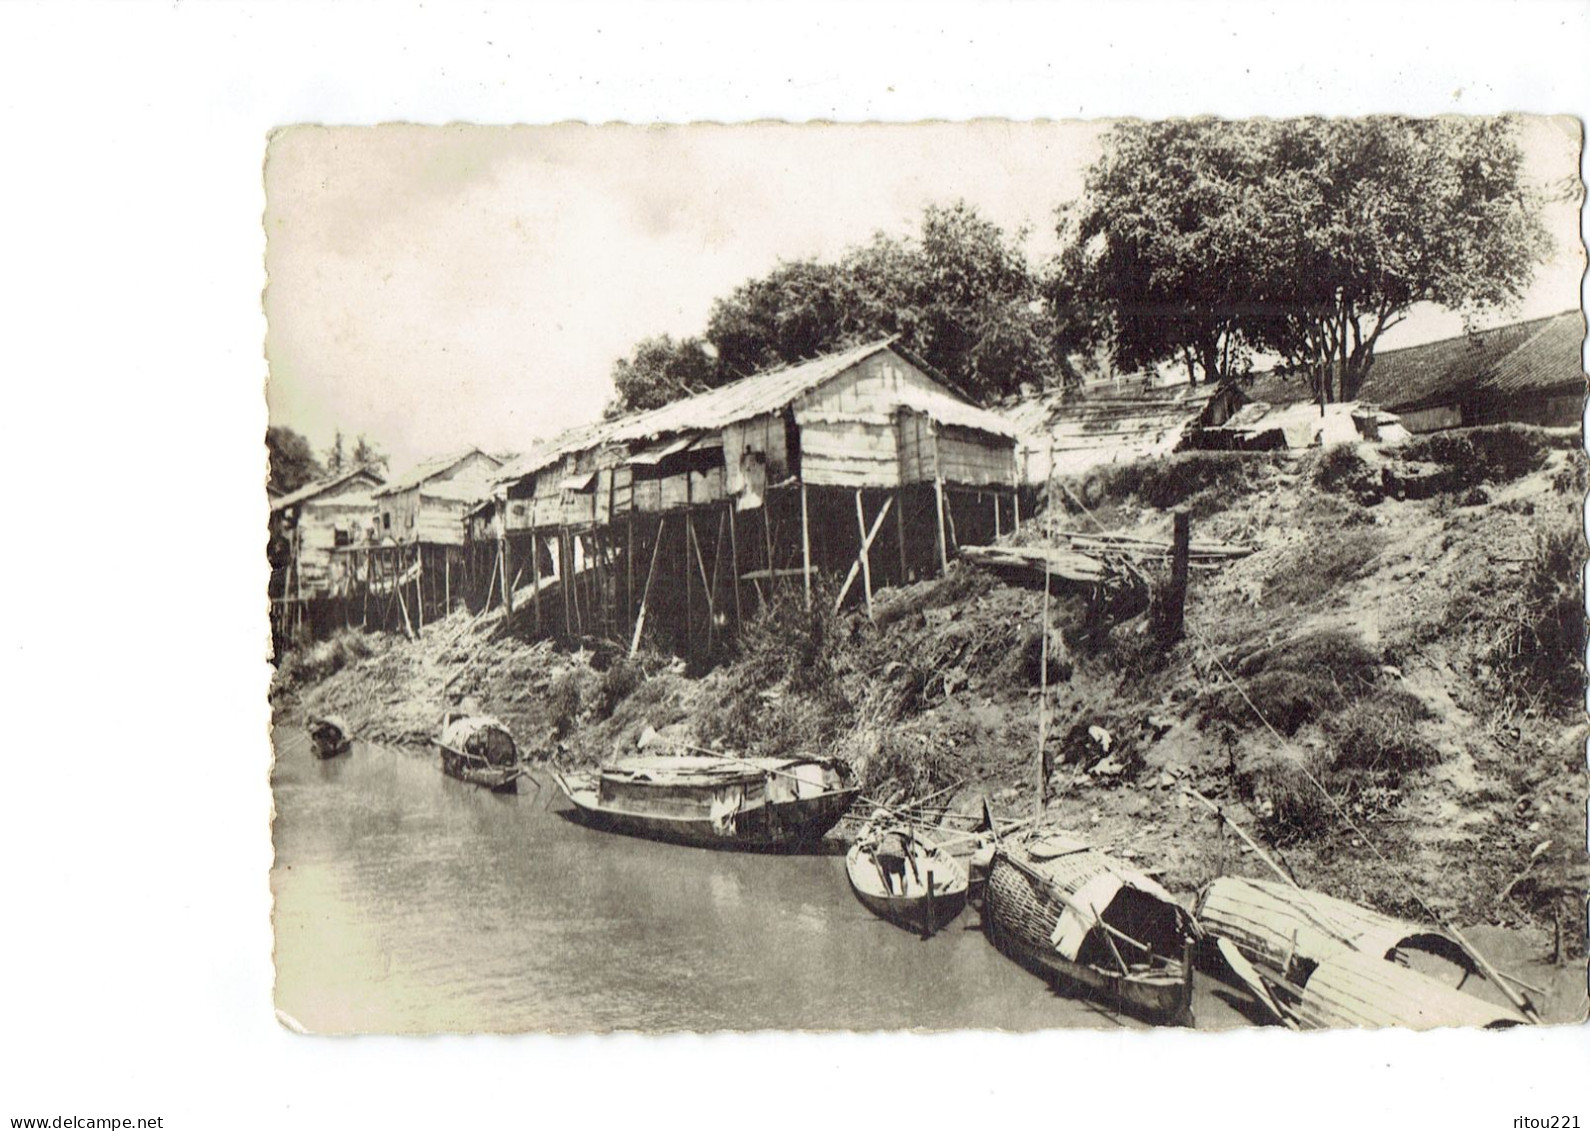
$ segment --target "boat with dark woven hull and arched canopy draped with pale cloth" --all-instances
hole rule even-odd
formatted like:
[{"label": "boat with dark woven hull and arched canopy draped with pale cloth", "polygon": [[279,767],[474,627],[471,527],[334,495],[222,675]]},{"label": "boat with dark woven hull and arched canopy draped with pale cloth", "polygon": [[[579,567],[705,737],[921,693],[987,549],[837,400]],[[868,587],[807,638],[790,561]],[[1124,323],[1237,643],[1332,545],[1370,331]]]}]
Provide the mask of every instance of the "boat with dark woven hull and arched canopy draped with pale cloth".
[{"label": "boat with dark woven hull and arched canopy draped with pale cloth", "polygon": [[1130,865],[1061,834],[994,848],[983,921],[995,945],[1124,1013],[1192,1020],[1192,916]]}]

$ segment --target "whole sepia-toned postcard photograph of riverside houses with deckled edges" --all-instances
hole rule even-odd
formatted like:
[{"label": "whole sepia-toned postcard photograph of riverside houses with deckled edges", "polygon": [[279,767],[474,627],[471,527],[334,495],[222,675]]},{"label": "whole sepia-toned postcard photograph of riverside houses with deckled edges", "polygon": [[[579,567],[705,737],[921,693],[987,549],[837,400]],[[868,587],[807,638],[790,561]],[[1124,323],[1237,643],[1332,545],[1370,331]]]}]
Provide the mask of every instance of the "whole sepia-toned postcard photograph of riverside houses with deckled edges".
[{"label": "whole sepia-toned postcard photograph of riverside houses with deckled edges", "polygon": [[275,134],[283,1021],[1584,1021],[1582,143]]}]

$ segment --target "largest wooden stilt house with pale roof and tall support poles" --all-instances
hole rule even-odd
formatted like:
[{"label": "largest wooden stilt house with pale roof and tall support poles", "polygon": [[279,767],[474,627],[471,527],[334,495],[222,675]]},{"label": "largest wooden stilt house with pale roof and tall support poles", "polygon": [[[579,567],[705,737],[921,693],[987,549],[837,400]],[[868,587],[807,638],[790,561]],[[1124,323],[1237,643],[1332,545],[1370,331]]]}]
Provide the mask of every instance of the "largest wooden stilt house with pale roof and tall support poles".
[{"label": "largest wooden stilt house with pale roof and tall support poles", "polygon": [[779,585],[871,611],[1018,509],[1011,426],[879,340],[566,433],[474,533],[536,630],[711,657]]}]

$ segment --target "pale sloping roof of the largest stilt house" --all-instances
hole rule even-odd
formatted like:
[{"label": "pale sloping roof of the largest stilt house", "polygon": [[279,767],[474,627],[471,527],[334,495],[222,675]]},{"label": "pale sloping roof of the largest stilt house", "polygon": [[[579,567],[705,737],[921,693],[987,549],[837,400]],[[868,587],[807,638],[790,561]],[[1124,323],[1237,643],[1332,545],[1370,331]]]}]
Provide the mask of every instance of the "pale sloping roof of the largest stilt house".
[{"label": "pale sloping roof of the largest stilt house", "polygon": [[[660,409],[571,428],[502,468],[494,479],[499,484],[523,479],[556,463],[571,452],[584,452],[603,444],[628,444],[655,441],[677,433],[717,431],[739,420],[778,412],[879,350],[889,348],[894,348],[894,339],[886,337],[812,358],[811,361],[784,366],[782,369],[752,374],[730,385],[665,404]],[[913,358],[903,353],[902,356],[925,371]],[[948,388],[941,394],[909,390],[900,398],[900,406],[925,412],[940,423],[956,428],[971,428],[995,436],[1016,434],[1016,429],[1006,420],[986,409],[967,404]]]}]

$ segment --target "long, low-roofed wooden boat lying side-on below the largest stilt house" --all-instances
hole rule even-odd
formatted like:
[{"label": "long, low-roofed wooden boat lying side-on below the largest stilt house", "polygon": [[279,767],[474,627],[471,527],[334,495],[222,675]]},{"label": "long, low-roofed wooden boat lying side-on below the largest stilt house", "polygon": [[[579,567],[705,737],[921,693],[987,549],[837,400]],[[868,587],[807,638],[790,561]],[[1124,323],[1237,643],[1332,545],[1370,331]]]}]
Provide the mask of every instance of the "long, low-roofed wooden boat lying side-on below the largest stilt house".
[{"label": "long, low-roofed wooden boat lying side-on below the largest stilt house", "polygon": [[596,829],[771,851],[822,840],[860,792],[849,767],[820,757],[642,754],[553,779]]}]

